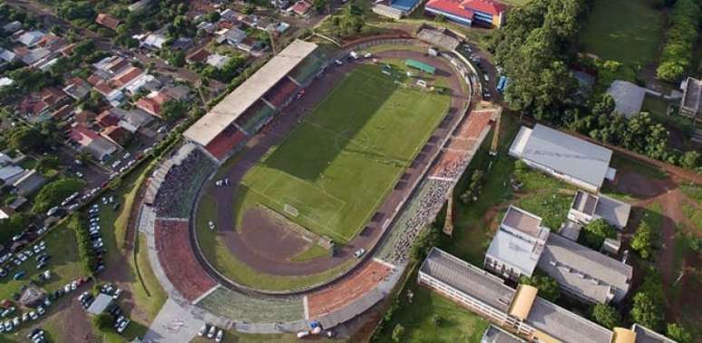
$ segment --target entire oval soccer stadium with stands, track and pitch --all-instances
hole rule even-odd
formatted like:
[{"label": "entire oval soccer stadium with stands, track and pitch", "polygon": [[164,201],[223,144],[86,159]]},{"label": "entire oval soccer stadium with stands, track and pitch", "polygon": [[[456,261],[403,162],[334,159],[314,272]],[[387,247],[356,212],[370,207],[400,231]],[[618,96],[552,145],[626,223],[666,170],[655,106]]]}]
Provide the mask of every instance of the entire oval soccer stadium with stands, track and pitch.
[{"label": "entire oval soccer stadium with stands, track and pitch", "polygon": [[417,46],[435,45],[297,40],[184,132],[139,223],[181,310],[291,332],[332,328],[392,292],[493,119],[469,113],[460,54]]}]

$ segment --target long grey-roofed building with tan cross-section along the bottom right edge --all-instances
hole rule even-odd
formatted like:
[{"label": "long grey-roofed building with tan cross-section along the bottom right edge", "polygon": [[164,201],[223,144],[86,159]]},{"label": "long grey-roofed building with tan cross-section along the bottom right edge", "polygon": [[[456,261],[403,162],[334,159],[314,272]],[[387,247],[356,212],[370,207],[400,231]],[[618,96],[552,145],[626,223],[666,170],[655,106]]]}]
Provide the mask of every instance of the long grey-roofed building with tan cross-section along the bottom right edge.
[{"label": "long grey-roofed building with tan cross-section along the bottom right edge", "polygon": [[531,286],[520,285],[515,291],[501,279],[437,248],[422,263],[417,281],[499,326],[485,332],[484,343],[513,343],[520,338],[549,343],[673,343],[637,324],[614,331],[603,328],[537,297]]}]

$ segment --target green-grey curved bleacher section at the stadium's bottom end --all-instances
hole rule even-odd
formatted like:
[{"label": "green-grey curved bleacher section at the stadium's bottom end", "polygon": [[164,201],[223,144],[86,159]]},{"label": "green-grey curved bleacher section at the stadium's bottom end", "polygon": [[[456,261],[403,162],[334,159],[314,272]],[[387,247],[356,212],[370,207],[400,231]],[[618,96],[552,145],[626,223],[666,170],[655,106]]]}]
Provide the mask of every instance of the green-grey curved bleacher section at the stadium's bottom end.
[{"label": "green-grey curved bleacher section at the stadium's bottom end", "polygon": [[223,287],[200,299],[197,306],[218,316],[249,323],[296,321],[304,317],[301,298],[260,299]]}]

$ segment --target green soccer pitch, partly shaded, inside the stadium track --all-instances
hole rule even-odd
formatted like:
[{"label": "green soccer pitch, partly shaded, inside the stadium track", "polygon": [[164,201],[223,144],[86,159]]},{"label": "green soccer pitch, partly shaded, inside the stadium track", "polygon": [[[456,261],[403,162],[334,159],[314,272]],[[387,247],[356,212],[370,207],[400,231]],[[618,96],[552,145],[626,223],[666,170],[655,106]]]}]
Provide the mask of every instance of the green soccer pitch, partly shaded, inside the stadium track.
[{"label": "green soccer pitch, partly shaded, inside the stadium track", "polygon": [[379,66],[356,67],[244,176],[238,217],[262,204],[319,235],[352,240],[449,104],[449,95],[398,85]]}]

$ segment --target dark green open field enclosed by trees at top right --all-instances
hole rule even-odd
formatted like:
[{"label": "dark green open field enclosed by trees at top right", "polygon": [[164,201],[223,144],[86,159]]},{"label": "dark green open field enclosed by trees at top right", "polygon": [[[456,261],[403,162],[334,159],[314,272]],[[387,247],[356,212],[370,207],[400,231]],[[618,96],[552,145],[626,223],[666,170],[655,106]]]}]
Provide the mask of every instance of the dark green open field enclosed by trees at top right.
[{"label": "dark green open field enclosed by trees at top right", "polygon": [[663,14],[648,0],[595,0],[580,43],[600,59],[645,66],[656,59],[663,33]]}]

